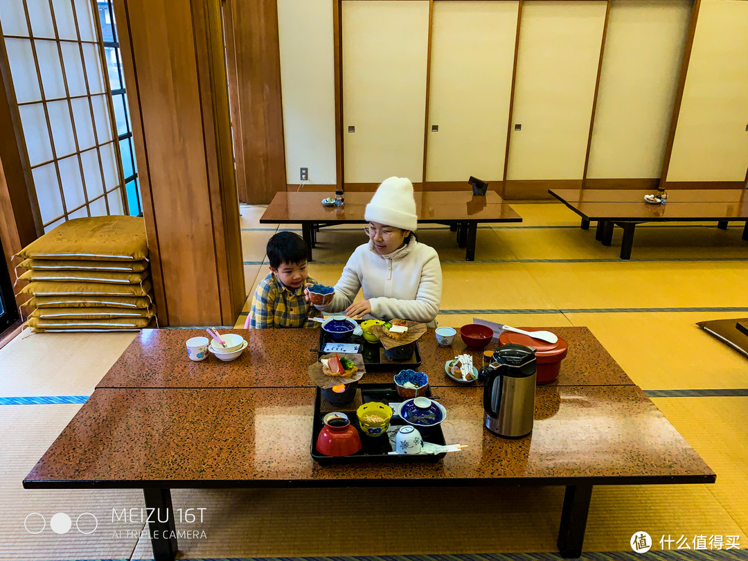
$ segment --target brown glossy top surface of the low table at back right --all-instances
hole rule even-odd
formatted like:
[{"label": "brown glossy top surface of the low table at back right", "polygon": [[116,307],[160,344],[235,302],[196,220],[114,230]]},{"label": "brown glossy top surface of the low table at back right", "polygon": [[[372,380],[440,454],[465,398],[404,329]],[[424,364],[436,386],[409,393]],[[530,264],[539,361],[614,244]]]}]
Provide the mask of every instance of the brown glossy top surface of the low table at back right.
[{"label": "brown glossy top surface of the low table at back right", "polygon": [[[657,189],[550,189],[560,200],[588,203],[643,203]],[[739,203],[748,201],[746,189],[667,189],[670,203]]]}]

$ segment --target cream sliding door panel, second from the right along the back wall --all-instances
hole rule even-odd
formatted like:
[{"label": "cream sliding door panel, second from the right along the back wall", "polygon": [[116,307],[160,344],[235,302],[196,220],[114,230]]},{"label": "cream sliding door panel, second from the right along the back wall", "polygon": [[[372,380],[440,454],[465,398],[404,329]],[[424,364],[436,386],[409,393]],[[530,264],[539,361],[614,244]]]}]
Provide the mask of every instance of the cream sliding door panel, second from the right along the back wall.
[{"label": "cream sliding door panel, second from the right along the back wall", "polygon": [[613,0],[587,177],[660,177],[690,10],[690,0]]}]

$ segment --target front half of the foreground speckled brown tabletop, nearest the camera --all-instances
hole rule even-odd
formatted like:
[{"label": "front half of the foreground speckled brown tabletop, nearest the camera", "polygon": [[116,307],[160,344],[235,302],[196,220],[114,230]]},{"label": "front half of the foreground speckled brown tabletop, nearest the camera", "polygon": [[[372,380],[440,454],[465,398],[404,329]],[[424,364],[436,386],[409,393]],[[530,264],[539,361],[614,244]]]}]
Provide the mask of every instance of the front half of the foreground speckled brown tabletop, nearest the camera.
[{"label": "front half of the foreground speckled brown tabletop, nearest the camera", "polygon": [[[636,386],[539,387],[528,438],[482,426],[482,391],[442,387],[438,463],[322,467],[310,458],[311,388],[99,389],[25,479],[27,487],[473,485],[709,482],[714,472]],[[642,428],[646,427],[646,438]],[[598,479],[599,478],[599,479]]]}]

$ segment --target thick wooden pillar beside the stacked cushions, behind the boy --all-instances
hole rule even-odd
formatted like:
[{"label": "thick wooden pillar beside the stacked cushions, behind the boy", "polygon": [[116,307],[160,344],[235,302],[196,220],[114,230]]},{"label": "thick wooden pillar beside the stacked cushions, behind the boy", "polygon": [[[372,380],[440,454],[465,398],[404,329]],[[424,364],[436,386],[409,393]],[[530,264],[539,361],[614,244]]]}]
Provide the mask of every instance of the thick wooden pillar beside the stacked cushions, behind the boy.
[{"label": "thick wooden pillar beside the stacked cushions, behind the boy", "polygon": [[161,325],[245,301],[220,0],[115,0]]}]

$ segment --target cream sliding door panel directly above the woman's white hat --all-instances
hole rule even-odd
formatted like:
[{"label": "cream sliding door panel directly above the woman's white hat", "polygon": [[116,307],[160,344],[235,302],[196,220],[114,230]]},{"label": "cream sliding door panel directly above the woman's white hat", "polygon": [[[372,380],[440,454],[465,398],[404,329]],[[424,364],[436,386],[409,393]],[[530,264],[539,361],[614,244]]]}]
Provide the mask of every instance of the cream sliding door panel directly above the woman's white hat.
[{"label": "cream sliding door panel directly above the woman's white hat", "polygon": [[429,2],[344,0],[342,25],[346,183],[420,182]]}]

